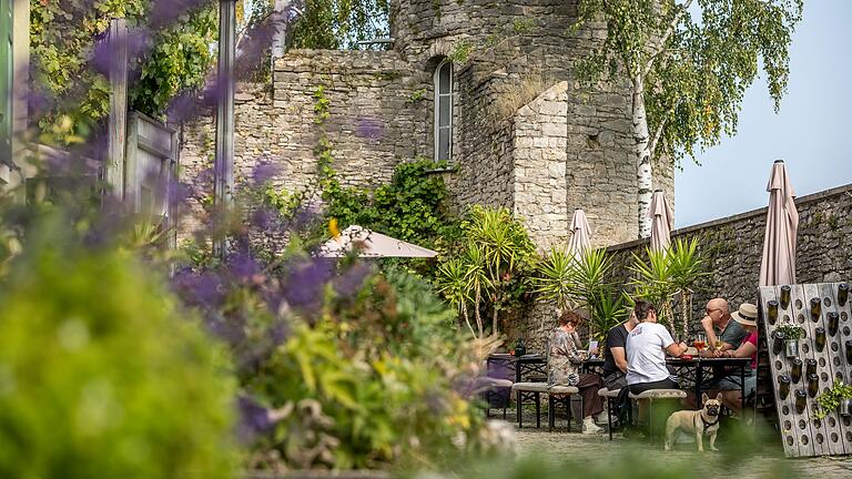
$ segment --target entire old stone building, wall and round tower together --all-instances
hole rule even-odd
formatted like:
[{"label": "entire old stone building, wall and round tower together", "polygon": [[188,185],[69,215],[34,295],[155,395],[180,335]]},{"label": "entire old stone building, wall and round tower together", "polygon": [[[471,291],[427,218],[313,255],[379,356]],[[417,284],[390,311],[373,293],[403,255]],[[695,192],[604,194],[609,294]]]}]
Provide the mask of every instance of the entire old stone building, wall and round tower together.
[{"label": "entire old stone building, wall and round tower together", "polygon": [[[576,19],[576,0],[393,0],[392,50],[291,51],[272,85],[239,85],[237,184],[273,162],[283,190],[305,187],[323,136],[344,184],[379,184],[399,162],[436,156],[436,116],[446,111],[454,172],[445,177],[457,208],[508,207],[541,248],[569,240],[577,207],[596,245],[636,238],[630,96],[626,85],[580,90],[572,63],[606,32],[591,24],[572,33]],[[447,64],[452,108],[435,100],[436,71]],[[318,95],[328,110],[322,124]],[[185,180],[210,181],[201,173],[214,137],[212,115],[184,126]],[[658,165],[655,185],[669,198],[672,179],[670,165]]]}]

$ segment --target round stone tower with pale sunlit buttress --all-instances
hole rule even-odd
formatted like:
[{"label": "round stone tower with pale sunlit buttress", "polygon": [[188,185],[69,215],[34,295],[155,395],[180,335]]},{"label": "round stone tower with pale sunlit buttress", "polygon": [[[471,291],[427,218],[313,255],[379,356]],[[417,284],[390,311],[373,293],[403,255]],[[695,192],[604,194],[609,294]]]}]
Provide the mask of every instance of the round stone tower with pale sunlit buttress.
[{"label": "round stone tower with pale sunlit buttress", "polygon": [[[630,95],[626,85],[579,90],[572,62],[606,30],[571,33],[576,19],[577,0],[392,1],[394,50],[428,74],[452,64],[455,200],[509,207],[541,247],[566,243],[576,207],[596,245],[638,235]],[[439,157],[437,75],[429,86],[426,103],[438,118],[427,134]],[[672,169],[656,166],[655,185],[671,201]]]}]

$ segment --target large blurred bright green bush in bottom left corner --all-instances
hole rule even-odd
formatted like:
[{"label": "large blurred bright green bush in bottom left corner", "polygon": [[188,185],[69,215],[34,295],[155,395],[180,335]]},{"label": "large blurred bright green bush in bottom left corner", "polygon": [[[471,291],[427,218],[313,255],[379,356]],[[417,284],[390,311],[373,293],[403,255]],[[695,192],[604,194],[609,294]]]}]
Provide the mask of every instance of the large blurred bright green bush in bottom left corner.
[{"label": "large blurred bright green bush in bottom left corner", "polygon": [[222,351],[150,265],[65,218],[33,217],[0,279],[0,476],[231,477]]}]

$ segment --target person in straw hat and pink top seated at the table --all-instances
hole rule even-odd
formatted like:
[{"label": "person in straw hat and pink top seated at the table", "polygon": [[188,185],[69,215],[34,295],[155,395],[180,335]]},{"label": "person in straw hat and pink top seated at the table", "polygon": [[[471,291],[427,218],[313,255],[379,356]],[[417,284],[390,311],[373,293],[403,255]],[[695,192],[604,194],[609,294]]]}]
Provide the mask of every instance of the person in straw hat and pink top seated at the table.
[{"label": "person in straw hat and pink top seated at the table", "polygon": [[736,349],[714,350],[716,357],[751,358],[751,367],[746,369],[746,385],[740,391],[740,385],[730,377],[721,378],[710,386],[711,390],[722,393],[722,402],[736,412],[741,412],[742,395],[751,396],[758,386],[758,307],[751,303],[743,303],[731,315],[731,319],[742,326],[747,332],[746,338]]}]

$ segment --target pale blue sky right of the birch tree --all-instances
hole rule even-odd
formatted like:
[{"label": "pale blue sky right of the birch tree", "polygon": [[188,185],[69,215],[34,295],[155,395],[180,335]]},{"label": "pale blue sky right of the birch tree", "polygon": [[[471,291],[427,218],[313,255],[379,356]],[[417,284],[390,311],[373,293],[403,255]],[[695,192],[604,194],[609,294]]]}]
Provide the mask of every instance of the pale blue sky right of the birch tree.
[{"label": "pale blue sky right of the birch tree", "polygon": [[774,160],[798,196],[852,183],[852,1],[805,0],[778,114],[767,84],[746,93],[737,135],[684,159],[674,177],[674,225],[763,207]]}]

